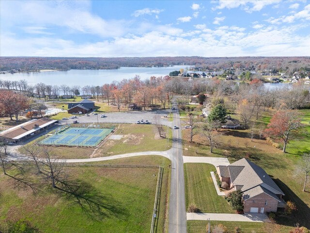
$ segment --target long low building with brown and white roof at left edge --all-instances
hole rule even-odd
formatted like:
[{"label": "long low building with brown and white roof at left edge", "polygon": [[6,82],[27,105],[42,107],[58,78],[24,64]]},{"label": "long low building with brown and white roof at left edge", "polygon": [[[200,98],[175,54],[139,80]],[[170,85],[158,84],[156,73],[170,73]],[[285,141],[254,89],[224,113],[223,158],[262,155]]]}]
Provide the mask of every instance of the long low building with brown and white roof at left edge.
[{"label": "long low building with brown and white roof at left edge", "polygon": [[44,130],[55,125],[58,120],[52,120],[50,118],[40,118],[27,121],[23,124],[17,125],[13,128],[0,132],[0,139],[7,142],[16,143],[23,139],[30,138],[36,133],[40,133]]}]

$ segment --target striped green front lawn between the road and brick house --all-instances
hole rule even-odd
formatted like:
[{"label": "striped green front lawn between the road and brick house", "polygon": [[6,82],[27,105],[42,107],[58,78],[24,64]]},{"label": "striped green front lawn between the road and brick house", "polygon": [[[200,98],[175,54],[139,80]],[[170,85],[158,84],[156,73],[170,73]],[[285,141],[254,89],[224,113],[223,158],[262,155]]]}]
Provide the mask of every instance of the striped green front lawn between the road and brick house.
[{"label": "striped green front lawn between the road and brick house", "polygon": [[202,213],[235,213],[222,196],[217,195],[210,171],[211,164],[184,164],[186,208],[195,204]]}]

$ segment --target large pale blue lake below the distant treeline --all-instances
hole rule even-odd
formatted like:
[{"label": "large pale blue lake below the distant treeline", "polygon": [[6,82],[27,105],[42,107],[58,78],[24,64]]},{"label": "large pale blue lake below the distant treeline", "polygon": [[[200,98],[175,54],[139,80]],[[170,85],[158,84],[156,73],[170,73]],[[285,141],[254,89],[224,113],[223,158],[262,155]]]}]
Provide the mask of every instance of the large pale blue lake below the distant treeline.
[{"label": "large pale blue lake below the distant treeline", "polygon": [[71,69],[68,71],[45,71],[0,74],[1,80],[19,81],[27,80],[31,85],[45,83],[47,85],[103,85],[112,81],[134,78],[139,75],[141,80],[151,76],[159,77],[169,75],[171,71],[186,69],[190,66],[173,67],[121,67],[119,69]]}]

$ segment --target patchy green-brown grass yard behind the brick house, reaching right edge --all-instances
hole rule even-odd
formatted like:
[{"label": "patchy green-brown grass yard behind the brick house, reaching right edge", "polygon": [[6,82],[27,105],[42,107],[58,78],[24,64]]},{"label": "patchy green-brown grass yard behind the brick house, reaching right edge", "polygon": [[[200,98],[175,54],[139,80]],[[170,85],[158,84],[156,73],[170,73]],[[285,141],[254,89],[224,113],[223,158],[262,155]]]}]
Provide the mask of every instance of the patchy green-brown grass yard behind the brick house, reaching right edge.
[{"label": "patchy green-brown grass yard behind the brick house, reaching right edge", "polygon": [[[305,124],[303,129],[309,132],[310,110],[299,110],[299,112],[304,114],[302,116],[302,123]],[[269,119],[270,114],[265,113],[262,121],[267,124]],[[298,211],[292,216],[280,216],[277,219],[280,226],[292,227],[298,222],[301,226],[310,228],[310,193],[302,191],[304,177],[298,177],[295,174],[295,165],[299,161],[300,155],[309,152],[309,134],[299,133],[298,139],[292,140],[288,144],[287,153],[282,153],[280,149],[276,149],[266,140],[255,138],[251,142],[248,131],[227,130],[224,131],[224,135],[219,137],[219,145],[214,153],[210,153],[208,144],[200,135],[194,136],[196,143],[189,143],[188,132],[188,130],[182,132],[184,155],[227,157],[230,163],[249,157],[278,184],[285,193],[284,200],[291,200],[297,205]],[[307,189],[310,190],[310,182],[308,182]]]}]

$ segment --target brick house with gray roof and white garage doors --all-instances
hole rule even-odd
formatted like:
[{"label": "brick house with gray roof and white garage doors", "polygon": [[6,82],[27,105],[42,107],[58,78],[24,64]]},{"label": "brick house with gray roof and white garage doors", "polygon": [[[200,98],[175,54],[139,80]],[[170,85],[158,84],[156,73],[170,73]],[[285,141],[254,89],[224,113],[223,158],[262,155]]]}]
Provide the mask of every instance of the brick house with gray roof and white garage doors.
[{"label": "brick house with gray roof and white garage doors", "polygon": [[243,192],[245,213],[284,211],[286,203],[282,196],[285,194],[262,167],[248,159],[217,166],[217,174],[221,182],[225,181],[234,190]]}]

